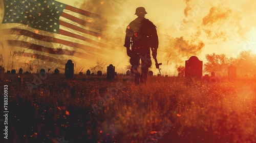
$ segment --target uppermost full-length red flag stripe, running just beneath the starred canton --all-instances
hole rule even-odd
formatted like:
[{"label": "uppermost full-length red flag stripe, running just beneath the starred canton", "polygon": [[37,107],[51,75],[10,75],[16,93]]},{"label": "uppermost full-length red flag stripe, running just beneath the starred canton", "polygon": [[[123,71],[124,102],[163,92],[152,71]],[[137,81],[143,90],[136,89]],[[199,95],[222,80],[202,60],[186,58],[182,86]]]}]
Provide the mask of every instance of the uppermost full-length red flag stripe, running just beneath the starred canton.
[{"label": "uppermost full-length red flag stripe, running just beneath the starred canton", "polygon": [[31,38],[41,40],[41,41],[55,42],[55,43],[60,43],[60,44],[71,46],[71,47],[77,47],[79,49],[83,49],[83,50],[86,50],[86,51],[92,51],[92,50],[100,51],[99,49],[96,49],[93,46],[74,43],[74,42],[71,42],[71,41],[62,40],[62,39],[58,39],[58,38],[54,38],[54,37],[50,37],[50,36],[43,36],[43,35],[35,34],[33,32],[30,32],[30,31],[24,30],[24,29],[14,29],[13,28],[13,29],[3,29],[2,31],[3,31],[3,34],[24,35],[24,36],[28,36],[28,37],[31,37]]}]

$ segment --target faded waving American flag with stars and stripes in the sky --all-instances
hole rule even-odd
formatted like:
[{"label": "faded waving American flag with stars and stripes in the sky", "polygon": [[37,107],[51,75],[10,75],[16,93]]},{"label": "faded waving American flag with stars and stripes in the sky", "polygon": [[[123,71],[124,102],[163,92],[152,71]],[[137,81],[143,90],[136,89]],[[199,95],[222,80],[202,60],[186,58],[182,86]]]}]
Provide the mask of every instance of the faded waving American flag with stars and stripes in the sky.
[{"label": "faded waving American flag with stars and stripes in the sky", "polygon": [[52,0],[2,3],[0,41],[12,49],[24,49],[25,57],[63,64],[74,57],[93,58],[108,46],[101,15]]}]

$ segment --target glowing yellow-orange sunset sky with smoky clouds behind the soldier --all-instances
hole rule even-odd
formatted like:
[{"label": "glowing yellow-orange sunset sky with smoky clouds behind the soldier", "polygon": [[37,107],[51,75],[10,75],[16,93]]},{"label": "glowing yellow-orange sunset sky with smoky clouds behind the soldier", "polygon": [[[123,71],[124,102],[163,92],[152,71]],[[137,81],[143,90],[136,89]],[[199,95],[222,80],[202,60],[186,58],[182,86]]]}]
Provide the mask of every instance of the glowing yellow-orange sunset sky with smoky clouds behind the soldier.
[{"label": "glowing yellow-orange sunset sky with smoky clouds behind the soldier", "polygon": [[[128,64],[123,47],[125,28],[137,7],[146,9],[146,18],[156,26],[159,35],[158,61],[162,62],[162,71],[174,72],[176,65],[184,65],[184,60],[196,55],[205,60],[206,54],[226,54],[236,57],[242,50],[251,49],[256,53],[256,1],[250,0],[180,0],[180,1],[64,1],[83,10],[102,15],[105,18],[106,47],[100,54],[102,58],[83,61],[89,68],[96,59],[102,59],[108,65],[118,68]],[[0,18],[2,19],[2,18]],[[115,58],[114,58],[115,57]],[[152,59],[153,60],[153,59]],[[168,63],[168,64],[167,64]],[[153,61],[153,71],[157,71]]]}]

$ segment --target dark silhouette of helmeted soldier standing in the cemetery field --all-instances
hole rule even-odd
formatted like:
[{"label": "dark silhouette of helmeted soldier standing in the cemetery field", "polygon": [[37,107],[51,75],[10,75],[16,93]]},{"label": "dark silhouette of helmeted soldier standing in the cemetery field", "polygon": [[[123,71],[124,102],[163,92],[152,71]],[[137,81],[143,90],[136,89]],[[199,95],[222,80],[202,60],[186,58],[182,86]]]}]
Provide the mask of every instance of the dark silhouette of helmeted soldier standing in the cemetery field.
[{"label": "dark silhouette of helmeted soldier standing in the cemetery field", "polygon": [[[124,45],[127,56],[131,57],[131,74],[135,76],[135,84],[146,83],[148,68],[151,67],[150,49],[152,56],[156,58],[158,49],[158,35],[156,26],[145,18],[145,8],[138,7],[135,15],[138,17],[126,27]],[[130,46],[132,45],[132,49]],[[138,71],[141,59],[141,74]]]}]

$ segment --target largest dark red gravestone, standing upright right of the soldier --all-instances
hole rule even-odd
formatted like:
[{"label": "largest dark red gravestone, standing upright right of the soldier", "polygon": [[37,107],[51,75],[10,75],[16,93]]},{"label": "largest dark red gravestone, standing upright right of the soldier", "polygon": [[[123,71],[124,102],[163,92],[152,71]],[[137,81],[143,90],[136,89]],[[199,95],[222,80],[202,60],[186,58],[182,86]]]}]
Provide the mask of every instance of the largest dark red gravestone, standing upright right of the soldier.
[{"label": "largest dark red gravestone, standing upright right of the soldier", "polygon": [[203,61],[200,61],[198,57],[191,56],[185,61],[185,77],[189,80],[195,79],[201,82],[203,75]]}]

